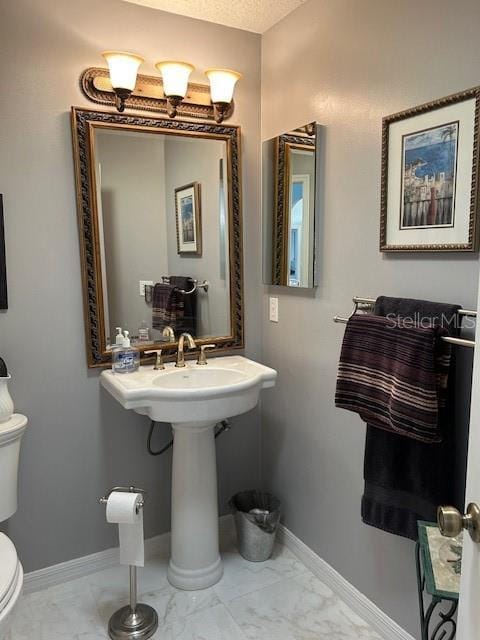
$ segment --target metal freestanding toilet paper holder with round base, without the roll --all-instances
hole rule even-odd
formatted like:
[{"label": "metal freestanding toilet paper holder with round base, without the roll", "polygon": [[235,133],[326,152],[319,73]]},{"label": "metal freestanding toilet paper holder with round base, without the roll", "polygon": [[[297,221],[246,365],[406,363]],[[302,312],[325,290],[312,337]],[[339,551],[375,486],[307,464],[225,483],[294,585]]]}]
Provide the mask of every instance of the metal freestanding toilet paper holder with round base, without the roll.
[{"label": "metal freestanding toilet paper holder with round base, without the roll", "polygon": [[[138,487],[113,487],[108,493],[98,499],[100,504],[106,504],[110,494],[114,491],[125,493],[140,493],[142,500],[137,504],[139,513],[145,504],[147,492]],[[130,604],[122,607],[112,615],[108,623],[108,635],[112,640],[147,640],[153,636],[158,628],[158,615],[153,607],[137,601],[137,567],[130,565]]]}]

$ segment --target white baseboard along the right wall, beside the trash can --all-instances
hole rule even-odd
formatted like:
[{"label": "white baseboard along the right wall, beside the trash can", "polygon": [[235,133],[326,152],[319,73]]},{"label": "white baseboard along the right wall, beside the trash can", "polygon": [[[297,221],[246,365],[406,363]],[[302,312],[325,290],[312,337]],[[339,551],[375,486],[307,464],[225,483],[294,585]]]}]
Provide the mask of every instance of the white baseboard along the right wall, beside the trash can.
[{"label": "white baseboard along the right wall, beside the trash can", "polygon": [[285,526],[280,525],[278,541],[284,544],[310,571],[336,593],[348,606],[384,640],[414,640],[394,620],[377,607],[363,593],[307,547]]}]

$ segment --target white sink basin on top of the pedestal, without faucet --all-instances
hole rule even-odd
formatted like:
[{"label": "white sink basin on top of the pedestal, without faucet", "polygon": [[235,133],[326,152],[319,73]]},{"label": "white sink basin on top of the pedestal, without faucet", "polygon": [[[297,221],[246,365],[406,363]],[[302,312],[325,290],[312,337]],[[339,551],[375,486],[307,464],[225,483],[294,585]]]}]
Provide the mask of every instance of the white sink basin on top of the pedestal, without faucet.
[{"label": "white sink basin on top of the pedestal, without faucet", "polygon": [[210,358],[207,365],[174,363],[163,371],[153,366],[135,373],[102,373],[103,386],[125,409],[134,409],[158,422],[220,421],[253,409],[261,389],[273,387],[274,369],[242,356]]}]

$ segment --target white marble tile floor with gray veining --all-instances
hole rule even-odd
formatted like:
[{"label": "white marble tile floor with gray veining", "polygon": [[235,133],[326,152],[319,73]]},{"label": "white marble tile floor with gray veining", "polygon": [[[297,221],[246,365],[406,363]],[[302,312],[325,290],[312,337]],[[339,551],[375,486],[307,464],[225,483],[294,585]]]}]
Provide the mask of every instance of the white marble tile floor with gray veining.
[{"label": "white marble tile floor with gray veining", "polygon": [[[166,558],[139,569],[139,600],[160,621],[154,640],[382,640],[287,548],[250,563],[231,538],[222,556],[222,580],[203,591],[173,588]],[[93,573],[24,596],[5,640],[105,640],[127,602],[127,567]]]}]

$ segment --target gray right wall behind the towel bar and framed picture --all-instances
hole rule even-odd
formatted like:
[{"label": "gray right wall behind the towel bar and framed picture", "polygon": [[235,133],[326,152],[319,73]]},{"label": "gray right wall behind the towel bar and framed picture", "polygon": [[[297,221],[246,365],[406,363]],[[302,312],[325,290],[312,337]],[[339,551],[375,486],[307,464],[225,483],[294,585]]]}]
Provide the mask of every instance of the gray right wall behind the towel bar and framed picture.
[{"label": "gray right wall behind the towel bar and framed picture", "polygon": [[475,308],[476,256],[382,255],[378,227],[382,116],[478,84],[479,30],[478,0],[310,0],[262,41],[262,138],[326,127],[319,287],[264,295],[263,360],[279,371],[262,404],[264,485],[297,536],[416,636],[413,544],[360,520],[365,431],[333,404],[332,318],[353,295]]}]

